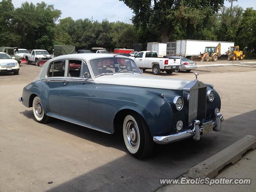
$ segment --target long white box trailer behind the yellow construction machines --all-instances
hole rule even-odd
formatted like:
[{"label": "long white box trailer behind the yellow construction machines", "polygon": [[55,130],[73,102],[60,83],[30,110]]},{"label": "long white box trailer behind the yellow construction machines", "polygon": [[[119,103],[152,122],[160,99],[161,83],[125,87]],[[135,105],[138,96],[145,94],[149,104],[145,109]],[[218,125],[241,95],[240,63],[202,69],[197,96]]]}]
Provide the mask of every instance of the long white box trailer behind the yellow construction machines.
[{"label": "long white box trailer behind the yellow construction machines", "polygon": [[216,47],[221,44],[221,54],[224,55],[230,46],[234,46],[234,42],[227,41],[204,41],[204,40],[177,40],[176,56],[198,56],[204,52],[205,47]]}]

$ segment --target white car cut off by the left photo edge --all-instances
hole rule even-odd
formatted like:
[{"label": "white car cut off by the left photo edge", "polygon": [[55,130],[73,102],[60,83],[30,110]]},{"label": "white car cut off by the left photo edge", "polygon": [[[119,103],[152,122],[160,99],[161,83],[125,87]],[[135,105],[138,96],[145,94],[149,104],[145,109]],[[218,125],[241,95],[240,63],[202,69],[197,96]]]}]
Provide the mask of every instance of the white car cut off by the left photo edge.
[{"label": "white car cut off by the left photo edge", "polygon": [[19,74],[20,65],[18,61],[14,59],[15,57],[11,57],[7,53],[0,52],[0,73],[2,72],[13,72],[14,75]]}]

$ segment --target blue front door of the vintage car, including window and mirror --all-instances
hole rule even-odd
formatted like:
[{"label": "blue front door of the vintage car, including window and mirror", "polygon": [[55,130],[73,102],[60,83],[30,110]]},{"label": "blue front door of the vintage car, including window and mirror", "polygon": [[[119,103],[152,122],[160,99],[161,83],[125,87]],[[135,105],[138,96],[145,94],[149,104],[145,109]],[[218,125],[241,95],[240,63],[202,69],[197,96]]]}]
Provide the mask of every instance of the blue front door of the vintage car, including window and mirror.
[{"label": "blue front door of the vintage car, including window and mirror", "polygon": [[86,63],[78,59],[68,60],[68,74],[61,90],[61,113],[69,118],[88,123],[90,121],[90,94],[93,86]]}]

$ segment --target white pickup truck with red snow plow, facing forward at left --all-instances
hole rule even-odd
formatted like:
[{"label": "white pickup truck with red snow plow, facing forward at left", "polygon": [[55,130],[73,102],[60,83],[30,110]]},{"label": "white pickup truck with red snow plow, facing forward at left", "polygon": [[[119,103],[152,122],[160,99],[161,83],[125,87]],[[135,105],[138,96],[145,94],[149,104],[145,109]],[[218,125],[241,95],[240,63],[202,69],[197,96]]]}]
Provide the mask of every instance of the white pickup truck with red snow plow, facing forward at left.
[{"label": "white pickup truck with red snow plow, facing forward at left", "polygon": [[26,64],[30,62],[35,62],[36,66],[43,65],[46,61],[53,58],[48,51],[42,49],[34,49],[30,53],[24,53],[24,58],[26,59]]}]

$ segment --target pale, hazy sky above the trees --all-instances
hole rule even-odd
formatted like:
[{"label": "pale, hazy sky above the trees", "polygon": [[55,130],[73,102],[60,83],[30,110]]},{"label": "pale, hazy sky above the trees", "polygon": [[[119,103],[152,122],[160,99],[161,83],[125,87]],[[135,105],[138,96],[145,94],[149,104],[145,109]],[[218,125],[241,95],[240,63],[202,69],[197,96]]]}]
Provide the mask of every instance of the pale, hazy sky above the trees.
[{"label": "pale, hazy sky above the trees", "polygon": [[[14,7],[20,7],[25,0],[12,0]],[[44,1],[46,4],[53,4],[54,8],[62,11],[61,18],[72,17],[74,20],[93,18],[102,21],[108,19],[110,22],[123,21],[130,22],[132,10],[119,0],[27,0],[36,4]],[[225,0],[225,6],[231,4]],[[253,7],[256,9],[256,0],[238,0],[233,5]]]}]

